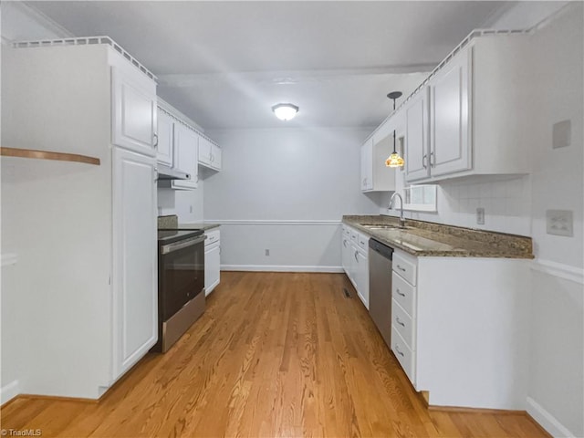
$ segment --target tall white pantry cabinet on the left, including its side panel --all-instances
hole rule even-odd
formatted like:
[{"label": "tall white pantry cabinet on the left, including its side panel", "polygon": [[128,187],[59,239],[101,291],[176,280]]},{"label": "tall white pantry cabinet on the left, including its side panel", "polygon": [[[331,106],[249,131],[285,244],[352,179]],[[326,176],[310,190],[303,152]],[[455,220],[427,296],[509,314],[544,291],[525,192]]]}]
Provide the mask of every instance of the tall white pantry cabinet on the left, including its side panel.
[{"label": "tall white pantry cabinet on the left, including its side panel", "polygon": [[24,357],[42,358],[27,370],[25,393],[98,399],[158,336],[156,84],[91,39],[98,43],[2,50],[10,108],[2,144],[100,161],[19,161],[16,169],[34,166],[35,178],[15,172],[3,184],[3,207],[15,217],[47,213],[32,224],[3,212],[3,245],[22,254],[18,297],[6,311],[31,316],[17,342]]}]

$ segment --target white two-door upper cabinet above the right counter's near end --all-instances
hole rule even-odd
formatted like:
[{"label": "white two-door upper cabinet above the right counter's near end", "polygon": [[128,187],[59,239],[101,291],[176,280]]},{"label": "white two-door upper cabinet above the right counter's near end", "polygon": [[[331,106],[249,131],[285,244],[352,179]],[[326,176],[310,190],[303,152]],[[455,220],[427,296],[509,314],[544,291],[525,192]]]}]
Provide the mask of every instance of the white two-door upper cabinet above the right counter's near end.
[{"label": "white two-door upper cabinet above the right counter's near end", "polygon": [[527,44],[521,34],[477,33],[386,120],[405,120],[407,183],[529,172],[523,120],[536,90],[521,56]]}]

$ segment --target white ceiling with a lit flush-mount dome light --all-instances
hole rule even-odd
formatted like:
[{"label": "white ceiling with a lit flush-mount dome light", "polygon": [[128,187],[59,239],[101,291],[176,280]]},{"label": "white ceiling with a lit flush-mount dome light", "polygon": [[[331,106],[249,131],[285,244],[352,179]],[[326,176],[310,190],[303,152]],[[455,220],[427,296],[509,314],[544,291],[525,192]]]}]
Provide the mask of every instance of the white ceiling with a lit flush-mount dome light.
[{"label": "white ceiling with a lit flush-mount dome light", "polygon": [[[472,29],[516,2],[27,2],[75,36],[111,36],[204,129],[370,127]],[[276,120],[278,102],[300,107]],[[399,104],[399,100],[398,100]]]}]

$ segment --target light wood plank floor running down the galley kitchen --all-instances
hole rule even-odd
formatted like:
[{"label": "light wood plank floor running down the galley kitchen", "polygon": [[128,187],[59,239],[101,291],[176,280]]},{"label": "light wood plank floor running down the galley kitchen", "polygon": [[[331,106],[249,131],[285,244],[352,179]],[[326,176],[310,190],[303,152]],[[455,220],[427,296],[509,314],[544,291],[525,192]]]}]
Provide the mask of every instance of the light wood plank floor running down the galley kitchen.
[{"label": "light wood plank floor running down the galley kitchen", "polygon": [[340,274],[222,273],[183,339],[99,403],[1,413],[43,437],[547,436],[523,414],[428,411]]}]

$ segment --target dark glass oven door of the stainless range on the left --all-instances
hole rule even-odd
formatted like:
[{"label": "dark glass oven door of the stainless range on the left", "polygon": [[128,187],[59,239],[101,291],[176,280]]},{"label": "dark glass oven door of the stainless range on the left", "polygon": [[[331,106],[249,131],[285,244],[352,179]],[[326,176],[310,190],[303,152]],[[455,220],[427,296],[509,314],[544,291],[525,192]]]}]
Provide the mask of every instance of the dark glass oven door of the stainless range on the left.
[{"label": "dark glass oven door of the stainless range on the left", "polygon": [[204,289],[204,235],[161,245],[159,315],[168,320]]}]

